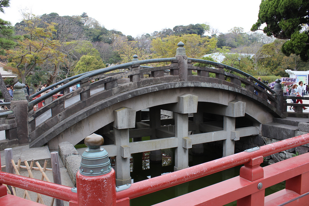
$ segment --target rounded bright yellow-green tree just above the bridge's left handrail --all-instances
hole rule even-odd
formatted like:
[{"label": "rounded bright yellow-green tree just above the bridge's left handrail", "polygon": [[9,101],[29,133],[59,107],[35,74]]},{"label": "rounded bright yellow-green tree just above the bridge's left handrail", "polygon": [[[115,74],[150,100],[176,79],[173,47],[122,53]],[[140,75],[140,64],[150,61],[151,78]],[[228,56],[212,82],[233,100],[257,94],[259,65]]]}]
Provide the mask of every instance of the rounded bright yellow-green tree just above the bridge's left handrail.
[{"label": "rounded bright yellow-green tree just above the bridge's left handrail", "polygon": [[74,68],[74,73],[82,74],[84,72],[102,69],[105,67],[106,66],[101,59],[97,60],[94,56],[83,55],[77,62],[77,65]]}]

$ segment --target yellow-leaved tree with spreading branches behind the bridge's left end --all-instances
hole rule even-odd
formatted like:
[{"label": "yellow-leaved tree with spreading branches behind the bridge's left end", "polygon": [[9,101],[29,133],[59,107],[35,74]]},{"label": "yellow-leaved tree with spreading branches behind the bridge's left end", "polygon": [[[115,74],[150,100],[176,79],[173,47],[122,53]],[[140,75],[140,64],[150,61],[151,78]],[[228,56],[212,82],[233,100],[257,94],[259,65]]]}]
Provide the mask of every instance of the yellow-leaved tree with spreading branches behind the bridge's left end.
[{"label": "yellow-leaved tree with spreading branches behind the bridge's left end", "polygon": [[23,21],[26,27],[23,28],[25,34],[24,40],[18,41],[14,50],[8,50],[8,57],[15,65],[25,83],[26,77],[31,74],[36,65],[42,64],[45,60],[60,55],[59,41],[53,39],[55,23],[44,23],[44,28],[38,27],[42,22],[32,14],[24,13]]}]

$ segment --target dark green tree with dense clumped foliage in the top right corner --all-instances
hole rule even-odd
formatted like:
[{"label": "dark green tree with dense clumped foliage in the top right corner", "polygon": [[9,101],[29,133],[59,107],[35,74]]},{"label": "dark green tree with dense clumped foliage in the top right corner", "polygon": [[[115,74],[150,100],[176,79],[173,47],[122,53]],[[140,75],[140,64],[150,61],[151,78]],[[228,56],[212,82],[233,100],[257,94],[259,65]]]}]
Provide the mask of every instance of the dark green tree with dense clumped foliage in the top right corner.
[{"label": "dark green tree with dense clumped foliage in the top right corner", "polygon": [[[286,56],[299,55],[309,60],[309,31],[302,27],[309,25],[309,2],[307,0],[263,0],[260,4],[258,21],[251,31],[262,30],[267,36],[286,41],[281,50]],[[266,23],[264,29],[261,25]]]}]

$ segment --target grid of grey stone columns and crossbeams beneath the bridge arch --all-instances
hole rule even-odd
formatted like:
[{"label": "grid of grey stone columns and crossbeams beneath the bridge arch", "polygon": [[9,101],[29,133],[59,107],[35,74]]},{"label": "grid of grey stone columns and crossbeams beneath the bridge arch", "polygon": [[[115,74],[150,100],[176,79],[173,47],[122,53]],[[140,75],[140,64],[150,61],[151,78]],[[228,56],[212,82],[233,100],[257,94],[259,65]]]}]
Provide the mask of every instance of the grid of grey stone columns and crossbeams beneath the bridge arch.
[{"label": "grid of grey stone columns and crossbeams beneath the bridge arch", "polygon": [[[171,138],[173,146],[170,147],[175,148],[174,171],[182,170],[189,166],[188,149],[193,148],[193,153],[203,153],[203,143],[193,143],[197,141],[205,142],[205,133],[203,132],[207,131],[209,127],[203,123],[203,111],[205,109],[197,108],[198,96],[191,94],[180,95],[178,96],[178,103],[166,105],[164,109],[172,112],[175,122],[175,125],[171,127],[173,132],[161,127],[161,109],[158,106],[149,109],[149,125],[146,124],[147,126],[139,121],[139,118],[136,118],[139,116],[139,113],[133,109],[121,107],[114,110],[115,120],[113,122],[112,141],[114,142],[113,148],[116,149],[116,152],[112,155],[115,155],[117,186],[131,183],[130,157],[134,153],[147,150],[145,150],[143,142],[150,142],[151,148],[164,149],[162,145],[164,145],[167,139]],[[212,132],[212,138],[208,142],[223,140],[223,157],[234,154],[235,141],[239,140],[241,136],[241,132],[235,129],[235,119],[236,117],[245,116],[245,108],[246,103],[241,101],[231,101],[227,107],[213,105],[212,112],[223,116],[223,130]],[[189,123],[189,114],[193,114],[193,124]],[[150,135],[150,141],[141,141],[141,138],[130,137],[129,131],[131,129],[132,131],[134,130],[134,137],[145,136],[145,128],[148,128],[147,134]],[[194,135],[197,135],[197,137],[194,138]],[[131,143],[129,142],[130,138],[132,138]],[[201,139],[197,140],[198,138]],[[130,146],[132,144],[134,144],[133,147]],[[109,146],[112,145],[105,145],[104,148],[108,149]],[[166,148],[170,147],[166,146]],[[150,151],[150,161],[162,161],[161,149]]]}]

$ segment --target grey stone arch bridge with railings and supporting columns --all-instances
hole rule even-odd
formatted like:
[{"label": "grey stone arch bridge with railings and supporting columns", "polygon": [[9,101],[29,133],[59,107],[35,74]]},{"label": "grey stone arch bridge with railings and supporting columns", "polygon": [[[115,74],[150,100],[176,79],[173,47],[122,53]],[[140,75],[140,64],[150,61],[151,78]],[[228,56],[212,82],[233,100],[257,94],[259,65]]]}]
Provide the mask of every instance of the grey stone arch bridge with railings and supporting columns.
[{"label": "grey stone arch bridge with railings and supporting columns", "polygon": [[[65,84],[29,103],[23,98],[13,99],[15,116],[18,112],[27,115],[26,120],[16,119],[17,124],[24,125],[17,128],[17,134],[23,130],[20,143],[28,141],[30,147],[47,144],[56,149],[60,142],[75,145],[98,132],[104,136],[109,156],[116,157],[116,179],[121,185],[130,183],[130,174],[124,168],[129,165],[131,153],[152,151],[155,158],[156,151],[175,148],[174,168],[180,170],[188,167],[189,148],[199,153],[203,143],[222,140],[223,156],[231,155],[235,141],[259,134],[261,124],[272,122],[273,117],[285,118],[276,92],[262,82],[227,65],[187,58],[179,46],[173,58],[135,57],[123,65],[58,82]],[[143,66],[158,62],[166,62],[167,66]],[[197,67],[193,62],[213,66]],[[106,74],[121,68],[129,71]],[[97,81],[90,83],[92,79]],[[80,88],[69,92],[69,87],[76,84]],[[64,95],[53,100],[52,95],[61,90]],[[44,107],[34,111],[42,100]],[[162,119],[162,114],[168,118]],[[150,140],[142,141],[148,136]]]}]

